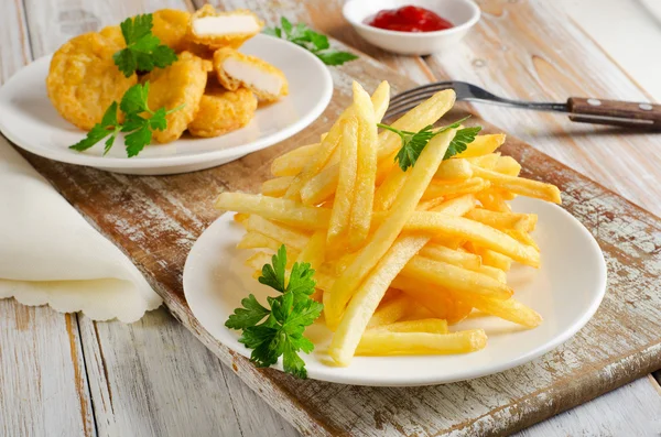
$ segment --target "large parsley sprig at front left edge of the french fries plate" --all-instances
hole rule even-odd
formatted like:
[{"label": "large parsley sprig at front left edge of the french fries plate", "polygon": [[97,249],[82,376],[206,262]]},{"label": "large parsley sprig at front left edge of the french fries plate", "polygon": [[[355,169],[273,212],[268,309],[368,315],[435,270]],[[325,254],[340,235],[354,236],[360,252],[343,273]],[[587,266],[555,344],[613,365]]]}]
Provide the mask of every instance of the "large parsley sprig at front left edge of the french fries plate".
[{"label": "large parsley sprig at front left edge of the french fries plate", "polygon": [[241,301],[242,307],[235,309],[225,326],[242,331],[239,341],[252,349],[250,361],[257,367],[275,364],[282,356],[285,372],[296,378],[307,378],[305,362],[299,357],[299,352],[310,353],[314,345],[303,332],[319,317],[324,308],[310,297],[316,284],[313,278],[314,270],[308,263],[296,262],[289,281],[285,281],[284,244],[271,262],[272,264],[264,264],[259,277],[259,282],[281,293],[278,297],[267,297],[270,309],[250,294]]}]

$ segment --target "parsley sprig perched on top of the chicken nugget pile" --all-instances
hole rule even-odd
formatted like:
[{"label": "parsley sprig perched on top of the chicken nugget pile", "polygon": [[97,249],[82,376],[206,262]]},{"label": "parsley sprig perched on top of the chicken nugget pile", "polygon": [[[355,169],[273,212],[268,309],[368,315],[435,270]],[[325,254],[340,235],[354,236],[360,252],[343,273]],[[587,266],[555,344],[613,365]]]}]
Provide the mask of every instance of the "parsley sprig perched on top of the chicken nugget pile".
[{"label": "parsley sprig perched on top of the chicken nugget pile", "polygon": [[127,47],[112,55],[112,59],[126,77],[136,72],[151,72],[154,67],[164,68],[176,61],[174,51],[161,44],[161,40],[152,33],[152,26],[151,13],[121,22],[121,34]]}]

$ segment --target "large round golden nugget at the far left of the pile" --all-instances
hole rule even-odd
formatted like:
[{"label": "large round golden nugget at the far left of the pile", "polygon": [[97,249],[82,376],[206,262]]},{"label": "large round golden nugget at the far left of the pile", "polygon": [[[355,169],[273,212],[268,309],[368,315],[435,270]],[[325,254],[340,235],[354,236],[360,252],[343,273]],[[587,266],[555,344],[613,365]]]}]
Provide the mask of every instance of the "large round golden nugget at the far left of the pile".
[{"label": "large round golden nugget at the far left of the pile", "polygon": [[106,109],[138,81],[136,75],[124,77],[112,61],[112,55],[126,47],[116,28],[69,40],[51,61],[48,98],[64,119],[83,130],[100,122]]}]

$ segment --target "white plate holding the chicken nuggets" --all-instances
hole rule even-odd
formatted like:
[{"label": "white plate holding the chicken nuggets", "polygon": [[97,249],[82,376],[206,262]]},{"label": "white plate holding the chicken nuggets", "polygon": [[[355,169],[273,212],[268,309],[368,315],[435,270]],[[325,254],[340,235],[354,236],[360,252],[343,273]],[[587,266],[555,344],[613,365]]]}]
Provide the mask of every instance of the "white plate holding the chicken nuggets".
[{"label": "white plate holding the chicken nuggets", "polygon": [[17,145],[34,154],[71,164],[117,173],[173,174],[193,172],[237,160],[283,141],[312,123],[333,96],[328,68],[313,54],[268,35],[249,40],[241,52],[258,56],[285,74],[290,94],[280,101],[260,106],[243,129],[210,139],[184,134],[169,144],[144,149],[127,157],[123,140],[102,156],[102,144],[79,153],[69,150],[85,136],[55,110],[46,95],[51,56],[23,67],[0,88],[0,130]]}]

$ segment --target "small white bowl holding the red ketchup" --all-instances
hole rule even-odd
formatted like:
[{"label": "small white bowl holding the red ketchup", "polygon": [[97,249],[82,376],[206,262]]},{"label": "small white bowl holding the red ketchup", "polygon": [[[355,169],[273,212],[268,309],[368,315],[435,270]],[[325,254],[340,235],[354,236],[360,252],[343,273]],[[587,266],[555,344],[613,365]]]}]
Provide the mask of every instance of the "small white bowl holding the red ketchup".
[{"label": "small white bowl holding the red ketchup", "polygon": [[[434,32],[398,32],[372,28],[371,19],[383,9],[412,4],[436,12],[454,28]],[[429,55],[451,50],[479,21],[480,10],[470,0],[349,0],[343,8],[345,19],[369,43],[402,55]]]}]

